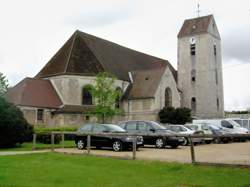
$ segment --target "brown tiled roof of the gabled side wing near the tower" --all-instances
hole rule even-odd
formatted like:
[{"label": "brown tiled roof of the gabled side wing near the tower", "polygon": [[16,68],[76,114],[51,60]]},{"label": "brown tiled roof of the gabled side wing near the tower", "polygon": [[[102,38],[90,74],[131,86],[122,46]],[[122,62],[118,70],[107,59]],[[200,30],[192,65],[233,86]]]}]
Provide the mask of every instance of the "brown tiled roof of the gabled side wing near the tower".
[{"label": "brown tiled roof of the gabled side wing near the tower", "polygon": [[153,98],[166,68],[132,72],[133,83],[125,93],[126,99]]}]

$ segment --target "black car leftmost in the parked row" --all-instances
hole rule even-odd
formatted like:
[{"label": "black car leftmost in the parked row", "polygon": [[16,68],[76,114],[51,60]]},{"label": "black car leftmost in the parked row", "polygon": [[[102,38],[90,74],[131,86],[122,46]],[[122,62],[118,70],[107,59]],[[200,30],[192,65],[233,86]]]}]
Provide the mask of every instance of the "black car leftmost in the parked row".
[{"label": "black car leftmost in the parked row", "polygon": [[[114,124],[86,124],[78,129],[78,135],[75,138],[75,144],[78,149],[84,149],[87,146],[87,135],[81,133],[126,133],[124,129]],[[106,136],[92,135],[91,146],[97,148],[111,147],[114,151],[122,151],[133,147],[133,137],[131,136]],[[137,148],[143,146],[143,138],[137,137]]]}]

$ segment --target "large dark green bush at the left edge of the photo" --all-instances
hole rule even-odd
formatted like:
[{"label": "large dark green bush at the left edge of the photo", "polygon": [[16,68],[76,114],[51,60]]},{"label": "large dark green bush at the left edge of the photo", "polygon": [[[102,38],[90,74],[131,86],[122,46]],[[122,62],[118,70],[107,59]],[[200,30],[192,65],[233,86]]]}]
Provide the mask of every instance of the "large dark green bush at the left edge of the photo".
[{"label": "large dark green bush at the left edge of the photo", "polygon": [[0,97],[0,147],[30,141],[32,134],[33,126],[25,120],[22,111]]}]

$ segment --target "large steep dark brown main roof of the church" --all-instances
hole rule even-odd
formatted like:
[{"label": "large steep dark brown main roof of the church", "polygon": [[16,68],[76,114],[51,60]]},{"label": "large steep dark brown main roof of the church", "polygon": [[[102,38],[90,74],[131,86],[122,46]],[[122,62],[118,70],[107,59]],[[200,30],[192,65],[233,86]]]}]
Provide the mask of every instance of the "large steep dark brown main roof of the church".
[{"label": "large steep dark brown main roof of the church", "polygon": [[129,81],[130,71],[159,69],[166,66],[176,78],[176,70],[167,60],[76,31],[36,78],[56,75],[94,76],[106,71],[118,79]]}]

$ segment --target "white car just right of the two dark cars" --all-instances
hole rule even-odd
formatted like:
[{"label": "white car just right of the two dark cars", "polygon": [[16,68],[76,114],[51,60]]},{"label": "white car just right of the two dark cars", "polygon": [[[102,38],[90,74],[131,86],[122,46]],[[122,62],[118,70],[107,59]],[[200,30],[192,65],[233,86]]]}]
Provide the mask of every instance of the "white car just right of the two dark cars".
[{"label": "white car just right of the two dark cars", "polygon": [[[166,128],[168,130],[171,130],[177,134],[183,134],[183,135],[191,135],[191,134],[204,134],[202,131],[195,131],[192,130],[188,127],[185,127],[184,125],[167,125]],[[202,143],[203,139],[202,138],[193,138],[192,139],[194,145],[198,144],[198,143]],[[184,141],[182,143],[182,145],[188,145],[189,139],[187,137],[184,138]]]}]

